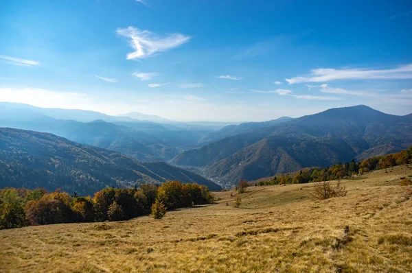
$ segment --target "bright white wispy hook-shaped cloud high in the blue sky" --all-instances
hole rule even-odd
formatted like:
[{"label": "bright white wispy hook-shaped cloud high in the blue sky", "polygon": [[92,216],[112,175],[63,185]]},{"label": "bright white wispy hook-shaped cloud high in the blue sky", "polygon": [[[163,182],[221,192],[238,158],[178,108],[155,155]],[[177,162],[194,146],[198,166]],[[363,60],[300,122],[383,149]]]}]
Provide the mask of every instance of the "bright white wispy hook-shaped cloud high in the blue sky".
[{"label": "bright white wispy hook-shaped cloud high in the blue sky", "polygon": [[191,38],[180,33],[161,37],[148,30],[140,30],[137,27],[118,28],[117,34],[130,38],[130,46],[135,49],[135,52],[127,54],[127,60],[148,58],[153,54],[179,47]]}]

